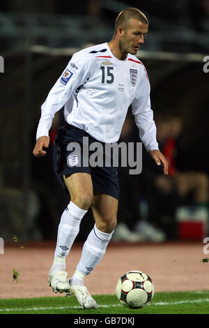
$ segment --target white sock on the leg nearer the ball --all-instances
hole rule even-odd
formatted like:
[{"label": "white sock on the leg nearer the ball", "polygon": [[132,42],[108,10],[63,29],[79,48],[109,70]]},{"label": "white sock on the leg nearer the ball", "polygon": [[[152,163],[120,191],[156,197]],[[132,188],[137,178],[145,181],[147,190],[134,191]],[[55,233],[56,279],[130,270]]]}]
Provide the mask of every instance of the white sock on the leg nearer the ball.
[{"label": "white sock on the leg nearer the ball", "polygon": [[94,225],[93,230],[88,234],[88,238],[84,243],[82,257],[79,260],[79,264],[77,264],[75,274],[72,276],[72,285],[84,284],[84,278],[91,273],[102,259],[113,232],[107,234],[98,230]]}]

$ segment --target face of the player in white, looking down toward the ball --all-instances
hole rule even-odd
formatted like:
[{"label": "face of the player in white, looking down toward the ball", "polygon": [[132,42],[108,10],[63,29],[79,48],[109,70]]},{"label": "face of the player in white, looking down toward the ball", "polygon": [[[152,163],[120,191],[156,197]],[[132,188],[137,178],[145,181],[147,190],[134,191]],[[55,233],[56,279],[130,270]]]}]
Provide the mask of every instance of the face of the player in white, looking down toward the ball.
[{"label": "face of the player in white, looking down toward the ball", "polygon": [[148,24],[139,20],[130,19],[127,29],[123,31],[121,37],[121,51],[130,54],[137,54],[137,51],[144,43],[144,36],[148,32]]}]

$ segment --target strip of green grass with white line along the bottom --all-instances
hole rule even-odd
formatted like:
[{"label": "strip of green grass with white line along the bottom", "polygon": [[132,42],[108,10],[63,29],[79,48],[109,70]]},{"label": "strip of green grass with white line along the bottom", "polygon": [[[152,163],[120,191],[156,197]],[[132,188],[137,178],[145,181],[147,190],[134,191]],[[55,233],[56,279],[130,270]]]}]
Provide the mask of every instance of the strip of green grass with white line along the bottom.
[{"label": "strip of green grass with white line along the bottom", "polygon": [[0,299],[0,314],[209,314],[209,290],[156,292],[150,306],[130,309],[116,295],[95,295],[97,309],[84,310],[74,297]]}]

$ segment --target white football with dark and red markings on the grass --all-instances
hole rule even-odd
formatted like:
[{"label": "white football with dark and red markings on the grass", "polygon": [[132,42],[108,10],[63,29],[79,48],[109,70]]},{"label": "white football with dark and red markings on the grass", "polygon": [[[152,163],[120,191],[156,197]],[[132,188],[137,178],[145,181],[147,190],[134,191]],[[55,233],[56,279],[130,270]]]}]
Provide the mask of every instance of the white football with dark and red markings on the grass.
[{"label": "white football with dark and red markings on the grass", "polygon": [[128,271],[118,280],[116,296],[123,306],[144,308],[155,293],[153,281],[141,271]]}]

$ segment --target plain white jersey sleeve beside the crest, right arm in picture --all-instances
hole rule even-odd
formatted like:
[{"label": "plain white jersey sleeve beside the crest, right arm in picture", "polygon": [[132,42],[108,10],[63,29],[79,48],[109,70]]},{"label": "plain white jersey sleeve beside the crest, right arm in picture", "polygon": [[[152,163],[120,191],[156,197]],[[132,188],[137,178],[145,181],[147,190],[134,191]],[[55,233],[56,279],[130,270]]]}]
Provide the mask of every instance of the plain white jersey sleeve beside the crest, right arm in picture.
[{"label": "plain white jersey sleeve beside the crest, right arm in picture", "polygon": [[150,82],[145,69],[141,70],[141,82],[137,96],[132,101],[132,114],[139,128],[139,137],[147,151],[158,149],[156,126],[153,121],[153,110],[150,107]]}]

